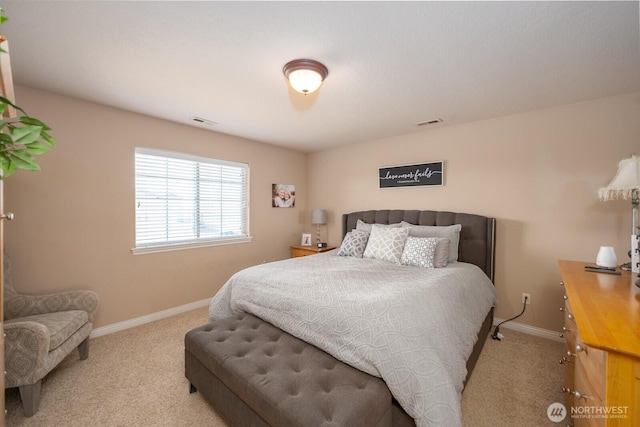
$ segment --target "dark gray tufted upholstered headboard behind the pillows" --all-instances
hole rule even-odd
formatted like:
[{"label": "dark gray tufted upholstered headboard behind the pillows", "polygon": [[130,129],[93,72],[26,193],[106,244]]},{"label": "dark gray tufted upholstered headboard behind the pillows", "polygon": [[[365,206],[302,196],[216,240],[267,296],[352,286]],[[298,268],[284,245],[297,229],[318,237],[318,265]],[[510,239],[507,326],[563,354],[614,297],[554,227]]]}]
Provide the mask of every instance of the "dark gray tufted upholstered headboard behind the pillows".
[{"label": "dark gray tufted upholstered headboard behind the pillows", "polygon": [[494,281],[496,219],[481,215],[418,210],[376,210],[342,215],[342,236],[356,228],[358,220],[369,224],[395,224],[406,221],[415,225],[461,224],[458,260],[475,264]]}]

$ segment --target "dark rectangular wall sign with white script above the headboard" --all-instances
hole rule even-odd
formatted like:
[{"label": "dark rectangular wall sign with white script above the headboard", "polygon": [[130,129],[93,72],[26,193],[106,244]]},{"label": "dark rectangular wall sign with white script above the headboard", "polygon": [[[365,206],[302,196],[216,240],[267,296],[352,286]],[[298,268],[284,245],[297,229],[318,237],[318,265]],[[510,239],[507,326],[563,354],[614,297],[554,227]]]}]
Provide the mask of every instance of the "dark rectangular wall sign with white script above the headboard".
[{"label": "dark rectangular wall sign with white script above the headboard", "polygon": [[444,185],[444,162],[389,166],[378,169],[379,188]]}]

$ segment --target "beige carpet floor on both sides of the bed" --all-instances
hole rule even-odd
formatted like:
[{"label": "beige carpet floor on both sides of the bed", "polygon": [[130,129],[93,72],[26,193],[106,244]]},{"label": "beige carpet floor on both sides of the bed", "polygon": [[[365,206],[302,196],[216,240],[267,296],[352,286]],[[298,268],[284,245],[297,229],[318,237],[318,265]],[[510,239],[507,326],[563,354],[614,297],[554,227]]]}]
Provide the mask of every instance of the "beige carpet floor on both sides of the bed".
[{"label": "beige carpet floor on both sides of the bed", "polygon": [[[40,411],[24,418],[6,390],[8,426],[226,426],[184,377],[184,334],[206,308],[91,340],[42,382]],[[561,343],[501,328],[487,341],[462,398],[465,427],[553,426],[547,406],[562,401]]]}]

